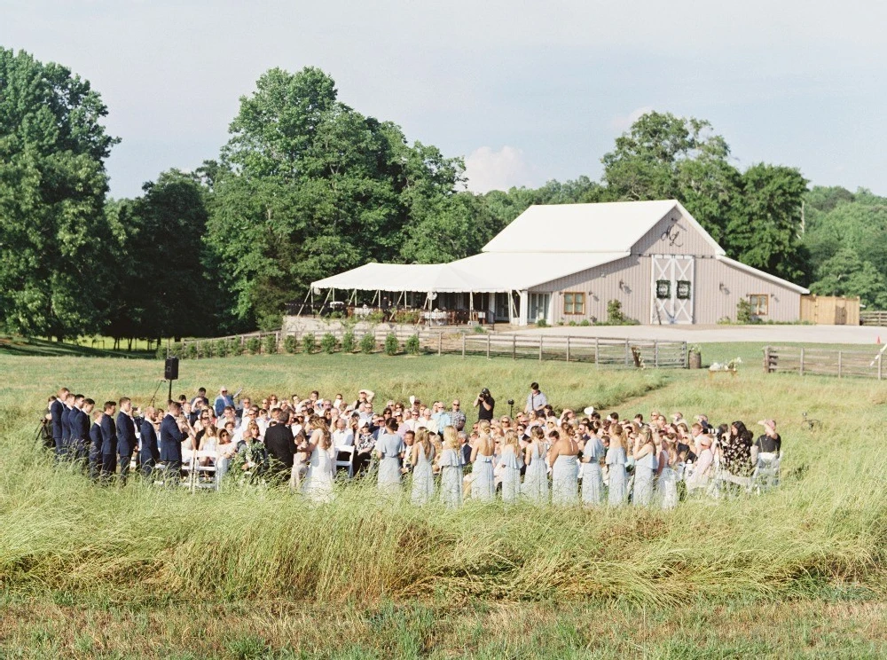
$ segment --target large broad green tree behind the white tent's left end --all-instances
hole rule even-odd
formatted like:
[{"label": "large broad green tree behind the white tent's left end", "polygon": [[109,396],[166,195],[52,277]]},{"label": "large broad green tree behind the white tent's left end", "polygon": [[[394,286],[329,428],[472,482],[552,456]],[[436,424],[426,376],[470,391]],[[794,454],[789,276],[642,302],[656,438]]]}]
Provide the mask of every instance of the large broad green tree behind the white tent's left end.
[{"label": "large broad green tree behind the white tent's left end", "polygon": [[240,99],[222,162],[200,172],[214,191],[208,245],[231,318],[279,325],[283,303],[312,280],[404,259],[404,228],[445,208],[462,171],[342,104],[319,69],[271,69]]}]

